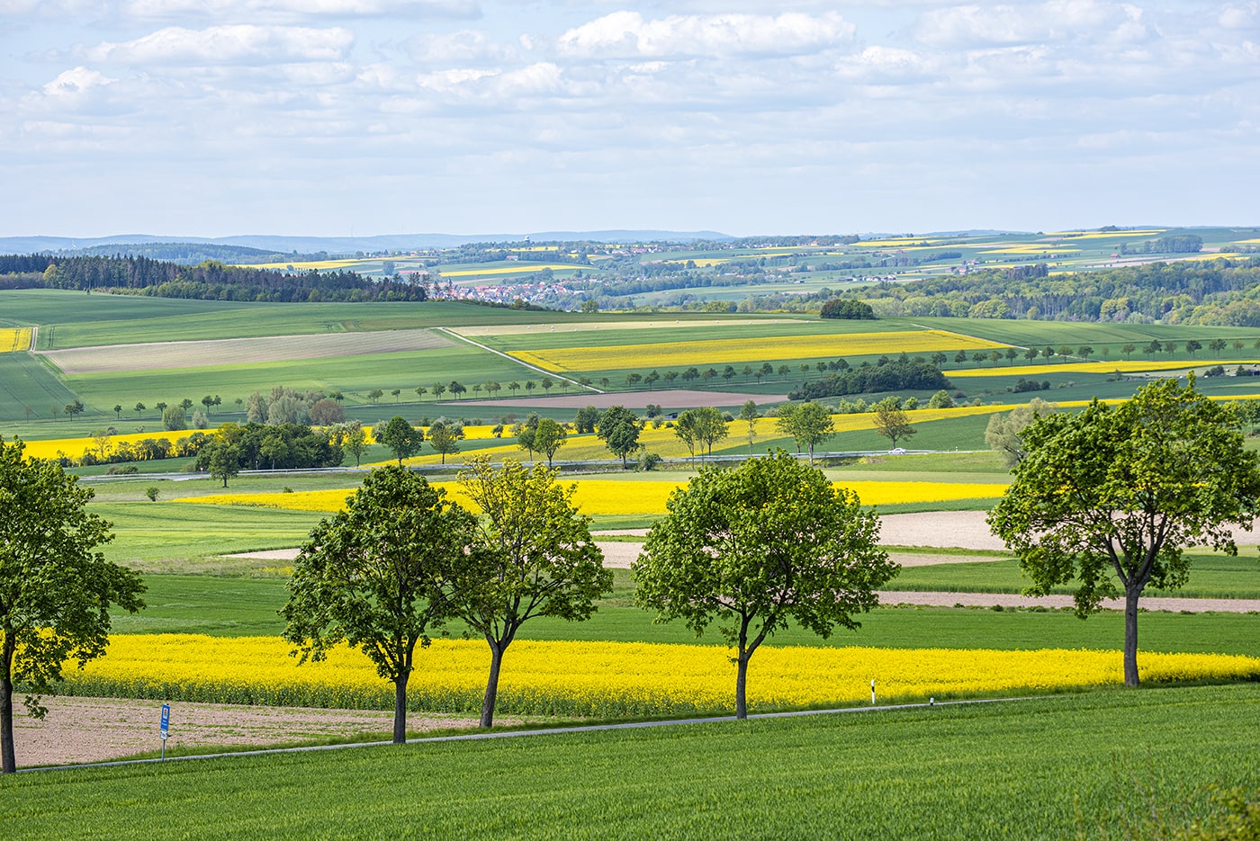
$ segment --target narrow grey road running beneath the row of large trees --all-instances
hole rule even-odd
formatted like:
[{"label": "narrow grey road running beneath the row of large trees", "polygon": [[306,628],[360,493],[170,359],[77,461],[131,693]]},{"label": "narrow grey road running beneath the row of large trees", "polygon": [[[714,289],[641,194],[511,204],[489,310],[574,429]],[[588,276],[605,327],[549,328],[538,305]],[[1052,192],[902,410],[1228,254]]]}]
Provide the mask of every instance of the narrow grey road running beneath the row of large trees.
[{"label": "narrow grey road running beneath the row of large trees", "polygon": [[[968,704],[1005,704],[1014,701],[1034,701],[1046,697],[1065,697],[1065,695],[1023,695],[1016,697],[973,697],[964,699],[960,701],[917,701],[915,704],[878,704],[871,706],[840,706],[825,710],[788,710],[784,713],[753,713],[748,715],[748,720],[752,719],[789,719],[800,718],[805,715],[842,715],[845,713],[888,713],[892,710],[912,710],[912,709],[926,709],[937,706],[963,706]],[[712,718],[689,718],[689,719],[663,719],[656,721],[624,721],[620,724],[580,724],[573,726],[563,728],[544,728],[538,730],[491,730],[489,733],[461,733],[459,735],[447,737],[417,737],[415,739],[407,739],[406,744],[436,744],[442,742],[479,742],[484,739],[514,739],[520,737],[543,737],[543,735],[570,735],[575,733],[600,733],[606,730],[634,730],[641,728],[662,728],[662,726],[678,726],[688,724],[712,724],[718,721],[737,721],[738,719],[733,715],[717,715]],[[194,759],[226,759],[232,757],[268,757],[273,754],[282,753],[312,753],[316,750],[344,750],[349,748],[382,748],[391,747],[393,742],[381,740],[381,742],[354,742],[350,744],[314,744],[305,745],[300,748],[263,748],[260,750],[232,750],[227,753],[200,753],[189,757],[169,757],[166,759],[152,758],[152,759],[120,759],[116,762],[91,762],[78,765],[39,765],[33,768],[19,768],[16,773],[26,774],[34,772],[48,772],[48,770],[81,770],[87,768],[121,768],[126,765],[149,765],[155,763],[168,763],[168,762],[188,762]]]}]

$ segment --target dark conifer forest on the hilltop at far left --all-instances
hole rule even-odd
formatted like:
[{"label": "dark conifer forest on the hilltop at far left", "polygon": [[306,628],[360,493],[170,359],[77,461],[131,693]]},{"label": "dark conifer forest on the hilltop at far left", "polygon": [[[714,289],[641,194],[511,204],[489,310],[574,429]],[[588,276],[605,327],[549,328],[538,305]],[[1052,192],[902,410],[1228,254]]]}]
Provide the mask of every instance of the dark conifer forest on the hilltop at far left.
[{"label": "dark conifer forest on the hilltop at far left", "polygon": [[204,261],[180,266],[147,257],[0,256],[0,288],[108,291],[213,301],[423,301],[426,283],[372,281],[354,272],[281,273]]}]

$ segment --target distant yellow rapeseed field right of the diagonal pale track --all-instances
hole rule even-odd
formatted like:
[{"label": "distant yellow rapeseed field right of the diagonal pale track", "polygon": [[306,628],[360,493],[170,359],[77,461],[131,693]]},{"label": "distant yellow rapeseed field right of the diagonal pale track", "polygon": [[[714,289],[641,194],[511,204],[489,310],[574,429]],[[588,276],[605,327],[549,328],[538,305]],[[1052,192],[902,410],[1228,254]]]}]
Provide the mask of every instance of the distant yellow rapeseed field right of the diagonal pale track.
[{"label": "distant yellow rapeseed field right of the diagonal pale track", "polygon": [[[727,363],[764,363],[796,359],[837,359],[874,354],[917,354],[935,350],[979,350],[1007,345],[945,330],[853,332],[829,336],[775,336],[772,339],[718,339],[712,341],[654,342],[588,347],[515,350],[523,363],[549,371],[592,371],[612,368],[683,368]],[[610,361],[624,360],[624,361]]]}]

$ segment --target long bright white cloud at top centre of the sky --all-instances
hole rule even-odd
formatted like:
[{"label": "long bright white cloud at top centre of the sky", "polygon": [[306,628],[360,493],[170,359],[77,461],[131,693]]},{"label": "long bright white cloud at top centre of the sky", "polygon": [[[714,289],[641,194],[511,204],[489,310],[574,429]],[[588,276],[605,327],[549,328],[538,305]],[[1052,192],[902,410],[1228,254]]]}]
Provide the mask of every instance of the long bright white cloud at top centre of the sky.
[{"label": "long bright white cloud at top centre of the sky", "polygon": [[585,58],[790,55],[845,43],[853,33],[853,24],[837,13],[645,20],[638,11],[614,11],[563,33],[558,47],[562,55]]}]

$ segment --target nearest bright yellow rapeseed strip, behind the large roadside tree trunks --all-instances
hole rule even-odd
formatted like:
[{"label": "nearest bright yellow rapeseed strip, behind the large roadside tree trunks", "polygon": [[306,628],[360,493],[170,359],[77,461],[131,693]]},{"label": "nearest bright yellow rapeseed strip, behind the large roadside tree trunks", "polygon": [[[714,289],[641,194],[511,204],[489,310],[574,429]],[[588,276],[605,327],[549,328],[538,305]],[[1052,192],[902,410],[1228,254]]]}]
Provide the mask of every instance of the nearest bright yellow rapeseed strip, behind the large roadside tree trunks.
[{"label": "nearest bright yellow rapeseed strip, behind the large roadside tree trunks", "polygon": [[[358,651],[296,665],[277,637],[199,635],[110,640],[107,656],[84,671],[67,669],[74,694],[122,697],[392,709],[393,685]],[[479,640],[435,640],[417,652],[410,706],[425,711],[480,709],[490,652]],[[1143,653],[1143,681],[1255,680],[1260,658],[1235,655]],[[753,708],[854,704],[982,692],[1121,684],[1119,651],[764,647],[750,665]],[[730,709],[735,667],[724,646],[638,642],[513,643],[503,661],[504,713],[650,715]]]}]

